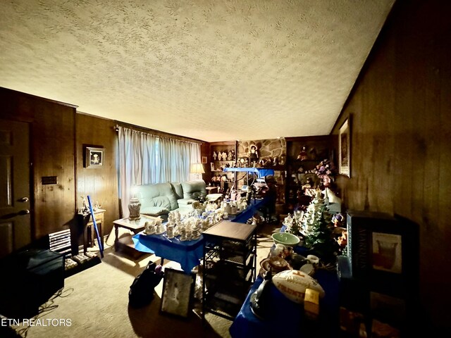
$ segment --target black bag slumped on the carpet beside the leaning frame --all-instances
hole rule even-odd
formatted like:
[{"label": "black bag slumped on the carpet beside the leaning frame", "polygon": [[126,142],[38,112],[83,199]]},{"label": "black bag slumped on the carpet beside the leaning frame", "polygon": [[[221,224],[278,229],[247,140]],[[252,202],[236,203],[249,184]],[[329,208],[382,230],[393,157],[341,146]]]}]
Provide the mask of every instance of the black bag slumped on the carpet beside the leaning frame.
[{"label": "black bag slumped on the carpet beside the leaning frame", "polygon": [[163,279],[161,265],[149,262],[140,275],[137,275],[130,285],[128,303],[133,308],[140,308],[149,304],[154,299],[154,288]]}]

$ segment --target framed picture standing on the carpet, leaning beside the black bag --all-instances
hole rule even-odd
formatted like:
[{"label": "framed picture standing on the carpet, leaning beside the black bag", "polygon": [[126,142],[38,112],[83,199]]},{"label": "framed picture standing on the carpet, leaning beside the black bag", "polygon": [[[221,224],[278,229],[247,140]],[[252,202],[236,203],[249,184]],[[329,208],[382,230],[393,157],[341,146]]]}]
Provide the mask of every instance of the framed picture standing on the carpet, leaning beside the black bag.
[{"label": "framed picture standing on the carpet, leaning beside the black bag", "polygon": [[161,313],[187,318],[190,314],[194,292],[194,274],[182,270],[164,270],[163,292],[161,294]]}]

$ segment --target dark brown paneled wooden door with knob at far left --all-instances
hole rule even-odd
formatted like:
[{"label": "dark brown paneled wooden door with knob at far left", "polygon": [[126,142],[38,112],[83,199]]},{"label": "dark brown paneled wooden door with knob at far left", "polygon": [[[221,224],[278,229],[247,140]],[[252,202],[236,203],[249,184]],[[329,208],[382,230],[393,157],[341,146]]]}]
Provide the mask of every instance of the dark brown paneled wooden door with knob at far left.
[{"label": "dark brown paneled wooden door with knob at far left", "polygon": [[0,258],[31,242],[29,129],[0,120]]}]

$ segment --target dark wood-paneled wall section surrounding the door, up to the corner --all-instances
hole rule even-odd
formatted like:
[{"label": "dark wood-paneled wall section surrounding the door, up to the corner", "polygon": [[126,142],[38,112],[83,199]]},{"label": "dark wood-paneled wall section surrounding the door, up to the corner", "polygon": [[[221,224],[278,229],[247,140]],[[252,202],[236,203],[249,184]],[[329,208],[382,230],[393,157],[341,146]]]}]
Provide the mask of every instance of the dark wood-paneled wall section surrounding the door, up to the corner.
[{"label": "dark wood-paneled wall section surrounding the door, up to the corner", "polygon": [[[31,126],[32,236],[39,239],[73,221],[76,106],[5,88],[0,88],[0,102],[1,118]],[[44,176],[56,176],[58,184],[43,185]]]}]

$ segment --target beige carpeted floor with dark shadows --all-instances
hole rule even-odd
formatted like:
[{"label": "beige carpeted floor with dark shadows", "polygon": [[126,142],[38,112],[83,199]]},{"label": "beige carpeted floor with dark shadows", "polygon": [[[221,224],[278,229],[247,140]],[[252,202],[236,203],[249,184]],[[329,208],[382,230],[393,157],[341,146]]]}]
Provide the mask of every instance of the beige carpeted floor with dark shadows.
[{"label": "beige carpeted floor with dark shadows", "polygon": [[[257,271],[273,244],[271,234],[279,230],[277,225],[259,228]],[[13,328],[21,337],[30,338],[230,337],[228,329],[232,322],[211,313],[206,314],[205,324],[197,310],[187,319],[159,313],[163,281],[155,288],[156,296],[148,306],[128,306],[130,285],[149,261],[158,263],[159,257],[147,254],[133,260],[125,253],[107,248],[101,263],[66,278],[61,293],[44,304],[42,313],[34,318],[34,325]],[[165,261],[163,268],[180,265]]]}]

